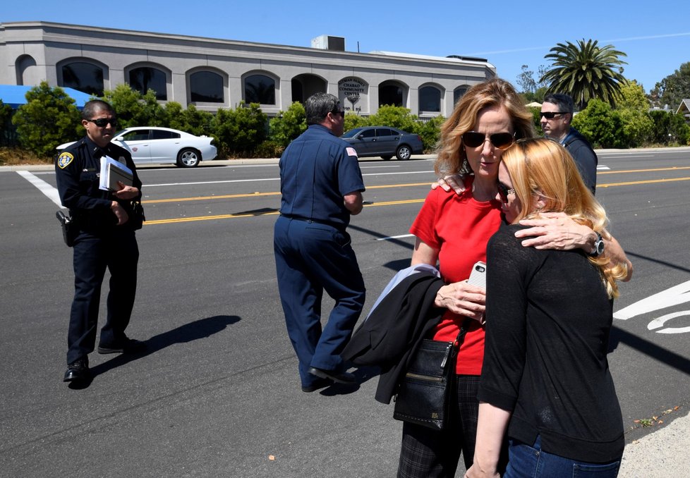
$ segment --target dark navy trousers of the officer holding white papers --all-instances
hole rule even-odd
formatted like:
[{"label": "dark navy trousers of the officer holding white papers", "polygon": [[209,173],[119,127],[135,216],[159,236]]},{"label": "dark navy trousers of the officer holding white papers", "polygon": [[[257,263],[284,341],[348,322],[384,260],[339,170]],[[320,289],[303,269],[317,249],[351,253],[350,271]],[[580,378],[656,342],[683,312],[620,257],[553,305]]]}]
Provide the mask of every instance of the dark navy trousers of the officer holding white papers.
[{"label": "dark navy trousers of the officer holding white papers", "polygon": [[74,243],[74,300],[67,336],[67,363],[95,348],[101,285],[110,271],[108,314],[99,343],[120,343],[134,307],[139,247],[133,231],[115,229],[107,235],[80,232]]}]

